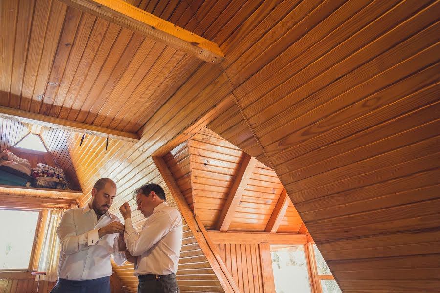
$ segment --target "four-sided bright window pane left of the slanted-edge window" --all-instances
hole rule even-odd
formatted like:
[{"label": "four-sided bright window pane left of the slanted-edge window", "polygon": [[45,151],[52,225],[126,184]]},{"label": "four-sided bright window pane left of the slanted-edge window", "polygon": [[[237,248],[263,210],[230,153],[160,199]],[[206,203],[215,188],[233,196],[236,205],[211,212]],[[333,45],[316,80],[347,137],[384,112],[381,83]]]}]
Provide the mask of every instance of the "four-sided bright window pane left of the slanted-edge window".
[{"label": "four-sided bright window pane left of the slanted-edge window", "polygon": [[304,245],[271,245],[277,293],[310,293]]}]

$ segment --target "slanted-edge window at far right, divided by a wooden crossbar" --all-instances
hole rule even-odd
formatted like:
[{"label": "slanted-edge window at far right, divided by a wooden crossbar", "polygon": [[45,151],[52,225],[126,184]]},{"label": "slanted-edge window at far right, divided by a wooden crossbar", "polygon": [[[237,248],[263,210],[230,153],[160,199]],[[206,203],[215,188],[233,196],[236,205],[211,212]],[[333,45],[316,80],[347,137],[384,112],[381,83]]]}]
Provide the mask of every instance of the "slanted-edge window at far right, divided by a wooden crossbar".
[{"label": "slanted-edge window at far right, divided by a wooden crossbar", "polygon": [[316,244],[309,245],[309,258],[317,293],[342,293]]}]

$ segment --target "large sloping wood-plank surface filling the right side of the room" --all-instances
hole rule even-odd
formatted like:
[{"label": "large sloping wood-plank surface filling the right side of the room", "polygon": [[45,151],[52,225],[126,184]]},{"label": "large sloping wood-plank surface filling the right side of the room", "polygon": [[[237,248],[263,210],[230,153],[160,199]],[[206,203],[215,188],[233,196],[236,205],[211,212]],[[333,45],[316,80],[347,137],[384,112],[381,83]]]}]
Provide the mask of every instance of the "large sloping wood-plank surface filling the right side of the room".
[{"label": "large sloping wood-plank surface filling the right side of the room", "polygon": [[208,127],[274,168],[341,289],[437,289],[440,2],[251,2],[192,5],[238,102]]}]

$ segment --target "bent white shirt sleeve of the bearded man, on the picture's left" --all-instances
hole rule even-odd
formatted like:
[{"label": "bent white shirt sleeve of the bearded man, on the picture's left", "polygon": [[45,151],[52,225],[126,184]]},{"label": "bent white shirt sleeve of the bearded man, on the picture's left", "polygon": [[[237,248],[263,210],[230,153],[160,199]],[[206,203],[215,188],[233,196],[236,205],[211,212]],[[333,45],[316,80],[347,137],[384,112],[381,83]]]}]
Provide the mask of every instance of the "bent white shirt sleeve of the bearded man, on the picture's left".
[{"label": "bent white shirt sleeve of the bearded man, on the picture's left", "polygon": [[[61,250],[67,255],[87,249],[98,241],[98,229],[90,230],[81,235],[76,235],[75,221],[69,212],[63,213],[60,225],[57,227]],[[90,243],[90,244],[88,244]]]}]

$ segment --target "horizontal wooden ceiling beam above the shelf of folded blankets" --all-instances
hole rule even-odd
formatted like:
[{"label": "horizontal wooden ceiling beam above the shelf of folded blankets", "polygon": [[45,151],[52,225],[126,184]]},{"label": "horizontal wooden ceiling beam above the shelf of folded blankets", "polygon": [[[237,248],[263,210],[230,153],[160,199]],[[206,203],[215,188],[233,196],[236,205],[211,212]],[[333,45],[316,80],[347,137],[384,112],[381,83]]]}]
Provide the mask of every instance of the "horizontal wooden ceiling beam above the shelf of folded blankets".
[{"label": "horizontal wooden ceiling beam above the shelf of folded blankets", "polygon": [[106,138],[108,137],[132,143],[137,143],[139,141],[139,136],[137,135],[137,133],[109,129],[102,126],[95,126],[82,122],[70,121],[67,119],[46,116],[38,113],[3,106],[0,106],[0,118],[16,120],[23,123],[38,124],[52,128],[60,128],[67,131],[102,136]]}]

